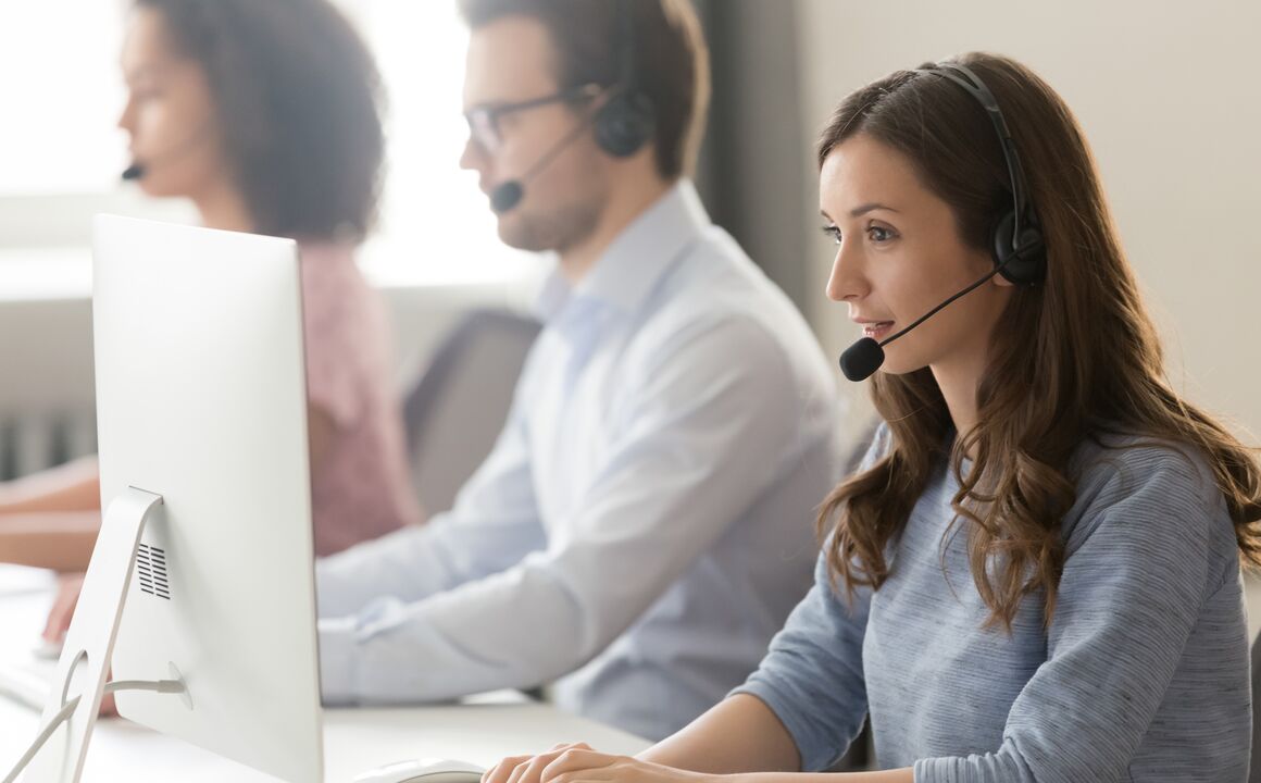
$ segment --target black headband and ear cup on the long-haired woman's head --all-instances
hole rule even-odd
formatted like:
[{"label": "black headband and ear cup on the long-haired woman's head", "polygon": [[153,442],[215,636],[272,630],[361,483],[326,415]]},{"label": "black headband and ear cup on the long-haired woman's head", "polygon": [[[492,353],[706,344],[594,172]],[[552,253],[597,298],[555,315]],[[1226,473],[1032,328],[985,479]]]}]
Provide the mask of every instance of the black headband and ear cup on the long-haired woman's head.
[{"label": "black headband and ear cup on the long-haired woman's head", "polygon": [[967,66],[941,63],[936,68],[926,68],[923,72],[955,82],[985,107],[985,113],[989,115],[994,130],[999,134],[1002,159],[1006,160],[1008,178],[1011,182],[1013,202],[1011,209],[999,216],[994,224],[990,241],[994,264],[1000,275],[1016,285],[1031,286],[1042,282],[1047,276],[1047,243],[1043,240],[1042,229],[1038,228],[1033,206],[1029,203],[1024,169],[1020,168],[1020,155],[1016,153],[1015,141],[1011,140],[1011,131],[1008,130],[1008,121],[1002,117],[997,100],[981,81],[981,77],[976,76]]}]

